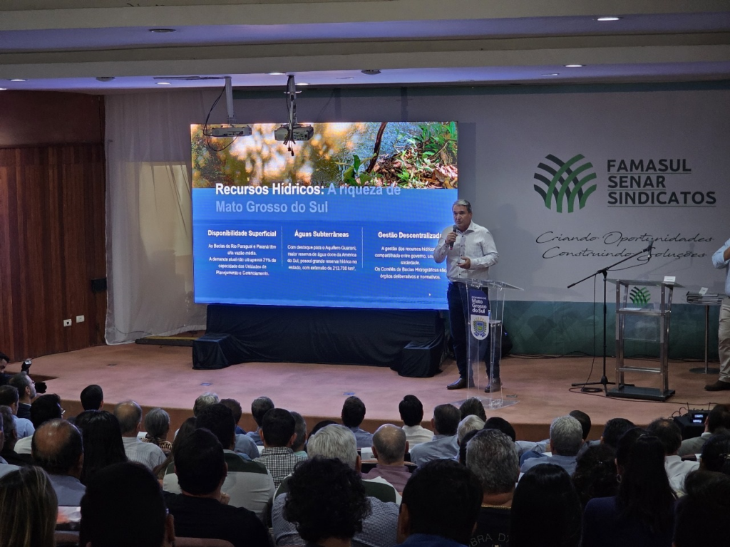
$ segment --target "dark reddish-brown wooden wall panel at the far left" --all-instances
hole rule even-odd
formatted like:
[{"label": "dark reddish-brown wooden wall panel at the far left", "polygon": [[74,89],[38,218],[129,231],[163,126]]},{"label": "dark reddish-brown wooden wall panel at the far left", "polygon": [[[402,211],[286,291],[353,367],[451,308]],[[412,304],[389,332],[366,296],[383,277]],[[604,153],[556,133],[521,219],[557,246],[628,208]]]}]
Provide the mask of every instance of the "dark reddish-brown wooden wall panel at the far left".
[{"label": "dark reddish-brown wooden wall panel at the far left", "polygon": [[104,172],[102,144],[0,150],[0,349],[14,359],[104,342]]}]

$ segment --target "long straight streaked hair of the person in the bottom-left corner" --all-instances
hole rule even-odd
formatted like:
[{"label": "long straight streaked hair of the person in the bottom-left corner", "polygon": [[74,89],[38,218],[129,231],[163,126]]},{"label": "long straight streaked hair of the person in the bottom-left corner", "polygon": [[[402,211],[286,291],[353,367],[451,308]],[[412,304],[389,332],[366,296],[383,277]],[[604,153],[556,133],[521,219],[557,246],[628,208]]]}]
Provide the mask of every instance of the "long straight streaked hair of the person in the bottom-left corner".
[{"label": "long straight streaked hair of the person in the bottom-left corner", "polygon": [[48,476],[29,466],[0,478],[0,547],[53,547],[58,500]]}]

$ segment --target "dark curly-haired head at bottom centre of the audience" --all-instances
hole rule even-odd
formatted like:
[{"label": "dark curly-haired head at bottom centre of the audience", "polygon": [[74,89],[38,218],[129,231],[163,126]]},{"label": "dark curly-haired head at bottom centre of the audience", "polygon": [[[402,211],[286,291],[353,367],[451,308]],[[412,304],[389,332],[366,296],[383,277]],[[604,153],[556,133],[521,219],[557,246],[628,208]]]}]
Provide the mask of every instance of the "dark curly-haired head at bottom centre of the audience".
[{"label": "dark curly-haired head at bottom centre of the audience", "polygon": [[288,487],[284,518],[296,524],[296,531],[309,544],[323,545],[332,538],[351,540],[370,515],[359,473],[337,458],[304,460]]}]

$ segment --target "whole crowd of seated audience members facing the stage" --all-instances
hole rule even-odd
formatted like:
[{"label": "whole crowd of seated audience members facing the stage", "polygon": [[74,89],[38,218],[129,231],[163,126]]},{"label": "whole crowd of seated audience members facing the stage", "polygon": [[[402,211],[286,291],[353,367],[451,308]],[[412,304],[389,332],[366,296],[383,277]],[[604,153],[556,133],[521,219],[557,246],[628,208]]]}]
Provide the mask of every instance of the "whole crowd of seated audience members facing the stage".
[{"label": "whole crowd of seated audience members facing the stage", "polygon": [[96,385],[73,418],[34,394],[26,424],[18,386],[33,392],[23,378],[0,387],[0,547],[60,545],[56,524],[79,508],[64,541],[85,547],[730,545],[729,405],[685,441],[665,418],[610,419],[589,441],[582,411],[526,441],[476,398],[434,407],[424,426],[406,395],[402,424],[367,431],[364,402],[347,397],[341,422],[307,434],[269,397],[245,432],[239,401],[204,393],[172,435],[164,409],[107,411]]}]

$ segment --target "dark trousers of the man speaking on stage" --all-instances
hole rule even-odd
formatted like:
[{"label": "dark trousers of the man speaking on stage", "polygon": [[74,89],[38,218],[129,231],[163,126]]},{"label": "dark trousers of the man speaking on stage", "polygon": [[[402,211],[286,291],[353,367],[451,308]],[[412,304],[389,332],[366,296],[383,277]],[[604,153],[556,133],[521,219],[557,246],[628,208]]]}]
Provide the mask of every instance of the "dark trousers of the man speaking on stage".
[{"label": "dark trousers of the man speaking on stage", "polygon": [[[487,309],[489,309],[489,295],[487,296]],[[446,291],[446,300],[449,304],[449,323],[451,325],[451,339],[453,341],[456,366],[461,378],[471,378],[472,371],[469,370],[469,294],[464,283],[449,283]],[[501,335],[501,332],[498,333]],[[480,344],[480,360],[485,360],[487,375],[489,374],[489,348],[491,341],[487,338]],[[499,358],[502,357],[502,338],[495,341],[494,348],[494,379],[499,379]],[[486,358],[485,358],[486,357]],[[491,381],[491,379],[490,379]]]}]

